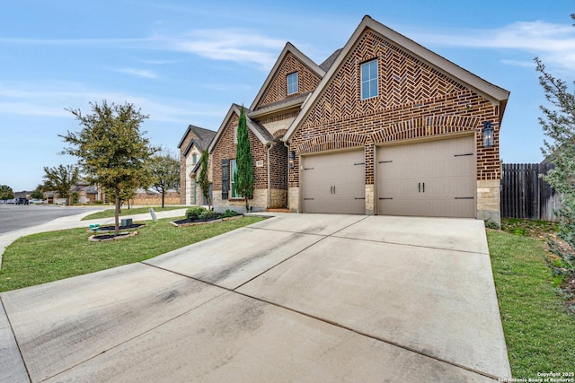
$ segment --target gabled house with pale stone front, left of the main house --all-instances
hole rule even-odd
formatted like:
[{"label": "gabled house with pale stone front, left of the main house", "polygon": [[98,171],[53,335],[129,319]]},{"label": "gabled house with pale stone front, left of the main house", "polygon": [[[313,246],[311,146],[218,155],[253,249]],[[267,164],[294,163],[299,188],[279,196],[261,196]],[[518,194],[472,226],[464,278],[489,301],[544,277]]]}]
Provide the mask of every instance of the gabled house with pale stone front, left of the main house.
[{"label": "gabled house with pale stone front, left of the main house", "polygon": [[199,159],[208,148],[216,132],[199,126],[188,126],[181,137],[180,149],[180,204],[203,205],[201,189],[197,178],[199,176]]}]

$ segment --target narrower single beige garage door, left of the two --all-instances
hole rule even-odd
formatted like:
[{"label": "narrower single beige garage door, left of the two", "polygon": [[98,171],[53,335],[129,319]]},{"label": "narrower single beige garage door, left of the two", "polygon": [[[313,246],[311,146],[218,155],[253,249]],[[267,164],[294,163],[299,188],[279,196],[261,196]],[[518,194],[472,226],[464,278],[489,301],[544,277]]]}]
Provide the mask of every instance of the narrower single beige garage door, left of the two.
[{"label": "narrower single beige garage door, left of the two", "polygon": [[364,151],[302,157],[305,213],[366,212]]}]

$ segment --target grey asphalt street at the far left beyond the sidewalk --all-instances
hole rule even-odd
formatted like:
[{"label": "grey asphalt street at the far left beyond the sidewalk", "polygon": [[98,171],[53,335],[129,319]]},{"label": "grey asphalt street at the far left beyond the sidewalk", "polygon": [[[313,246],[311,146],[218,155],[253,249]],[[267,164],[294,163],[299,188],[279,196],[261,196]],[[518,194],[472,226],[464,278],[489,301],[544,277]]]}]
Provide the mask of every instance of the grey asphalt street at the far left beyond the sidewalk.
[{"label": "grey asphalt street at the far left beyond the sidewalk", "polygon": [[54,205],[0,204],[0,234],[50,222],[59,217],[75,215],[88,210],[102,210],[110,206],[65,207]]}]

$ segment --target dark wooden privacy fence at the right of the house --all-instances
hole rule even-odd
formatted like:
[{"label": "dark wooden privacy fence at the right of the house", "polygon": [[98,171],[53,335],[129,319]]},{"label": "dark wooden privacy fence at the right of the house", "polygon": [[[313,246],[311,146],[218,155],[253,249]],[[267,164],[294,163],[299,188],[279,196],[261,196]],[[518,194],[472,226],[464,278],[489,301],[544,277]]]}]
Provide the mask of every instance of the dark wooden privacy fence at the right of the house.
[{"label": "dark wooden privacy fence at the right of the house", "polygon": [[559,195],[539,174],[553,163],[505,163],[501,179],[501,217],[555,221]]}]

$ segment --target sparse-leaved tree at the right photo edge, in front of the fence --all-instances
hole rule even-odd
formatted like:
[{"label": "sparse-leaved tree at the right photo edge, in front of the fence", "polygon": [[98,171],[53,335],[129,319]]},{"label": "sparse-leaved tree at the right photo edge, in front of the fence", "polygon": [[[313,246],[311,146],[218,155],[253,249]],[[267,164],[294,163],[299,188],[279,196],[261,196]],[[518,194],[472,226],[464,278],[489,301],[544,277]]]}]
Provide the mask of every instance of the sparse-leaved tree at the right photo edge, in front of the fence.
[{"label": "sparse-leaved tree at the right photo edge, in front of the fence", "polygon": [[[575,14],[571,14],[575,21]],[[544,117],[539,118],[544,134],[542,152],[551,158],[555,168],[542,175],[557,192],[562,193],[561,207],[555,212],[559,223],[558,236],[569,246],[560,246],[550,239],[553,253],[561,258],[565,276],[575,276],[575,92],[567,83],[547,72],[539,58],[535,58],[539,83],[552,108],[541,106]]]}]

